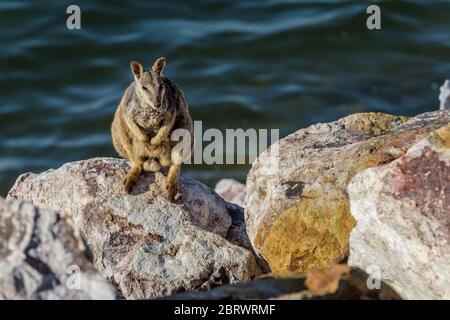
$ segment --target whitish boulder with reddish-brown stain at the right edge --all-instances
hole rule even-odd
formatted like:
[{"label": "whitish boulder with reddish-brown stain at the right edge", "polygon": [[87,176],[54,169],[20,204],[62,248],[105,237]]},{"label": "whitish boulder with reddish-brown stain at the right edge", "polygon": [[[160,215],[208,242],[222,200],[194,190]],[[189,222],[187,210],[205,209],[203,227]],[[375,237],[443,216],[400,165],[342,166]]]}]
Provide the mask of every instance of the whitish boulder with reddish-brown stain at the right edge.
[{"label": "whitish boulder with reddish-brown stain at the right edge", "polygon": [[450,299],[450,124],[348,186],[349,263],[408,299]]}]

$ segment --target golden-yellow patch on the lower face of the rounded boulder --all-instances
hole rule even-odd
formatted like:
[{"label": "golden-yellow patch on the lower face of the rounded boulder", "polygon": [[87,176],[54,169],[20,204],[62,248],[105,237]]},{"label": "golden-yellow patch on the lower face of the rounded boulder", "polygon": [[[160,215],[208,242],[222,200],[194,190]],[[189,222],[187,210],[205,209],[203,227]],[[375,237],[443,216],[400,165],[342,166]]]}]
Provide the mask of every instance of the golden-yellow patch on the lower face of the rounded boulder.
[{"label": "golden-yellow patch on the lower face of the rounded boulder", "polygon": [[281,213],[259,247],[273,272],[307,272],[341,261],[354,219],[343,192],[303,198]]}]

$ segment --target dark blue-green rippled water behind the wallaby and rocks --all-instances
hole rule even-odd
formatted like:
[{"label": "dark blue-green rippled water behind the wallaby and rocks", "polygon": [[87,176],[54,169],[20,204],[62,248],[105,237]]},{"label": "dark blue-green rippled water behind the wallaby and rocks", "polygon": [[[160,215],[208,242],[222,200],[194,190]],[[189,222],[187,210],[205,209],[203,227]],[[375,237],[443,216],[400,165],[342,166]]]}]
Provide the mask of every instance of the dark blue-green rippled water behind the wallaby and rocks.
[{"label": "dark blue-green rippled water behind the wallaby and rocks", "polygon": [[[132,59],[166,56],[205,128],[281,136],[354,112],[434,110],[450,77],[449,2],[192,3],[1,1],[0,194],[22,172],[115,156],[110,123]],[[365,26],[370,3],[381,31]],[[69,4],[81,7],[81,30],[66,28]],[[213,185],[247,169],[185,172]]]}]

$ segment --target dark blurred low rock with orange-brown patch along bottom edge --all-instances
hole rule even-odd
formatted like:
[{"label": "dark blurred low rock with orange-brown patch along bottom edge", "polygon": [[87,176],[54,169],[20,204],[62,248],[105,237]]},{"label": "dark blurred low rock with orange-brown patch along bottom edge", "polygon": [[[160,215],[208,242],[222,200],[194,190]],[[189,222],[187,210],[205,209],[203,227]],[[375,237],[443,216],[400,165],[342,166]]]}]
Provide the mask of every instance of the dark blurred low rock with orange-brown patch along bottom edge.
[{"label": "dark blurred low rock with orange-brown patch along bottom edge", "polygon": [[400,296],[385,283],[380,282],[379,289],[369,289],[368,282],[371,283],[371,279],[363,271],[347,265],[334,265],[308,274],[289,272],[269,274],[245,284],[227,285],[204,292],[187,292],[165,299],[400,299]]}]

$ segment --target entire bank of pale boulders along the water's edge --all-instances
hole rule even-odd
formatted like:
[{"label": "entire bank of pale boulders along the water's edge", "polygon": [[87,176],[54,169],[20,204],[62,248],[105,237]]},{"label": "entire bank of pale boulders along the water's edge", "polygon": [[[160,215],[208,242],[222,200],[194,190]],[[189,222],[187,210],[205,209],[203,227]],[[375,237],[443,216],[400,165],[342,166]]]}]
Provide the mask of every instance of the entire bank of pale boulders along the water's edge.
[{"label": "entire bank of pale boulders along the water's edge", "polygon": [[450,110],[300,129],[246,185],[184,176],[177,203],[164,173],[125,193],[127,168],[18,177],[0,201],[0,298],[450,299]]}]

